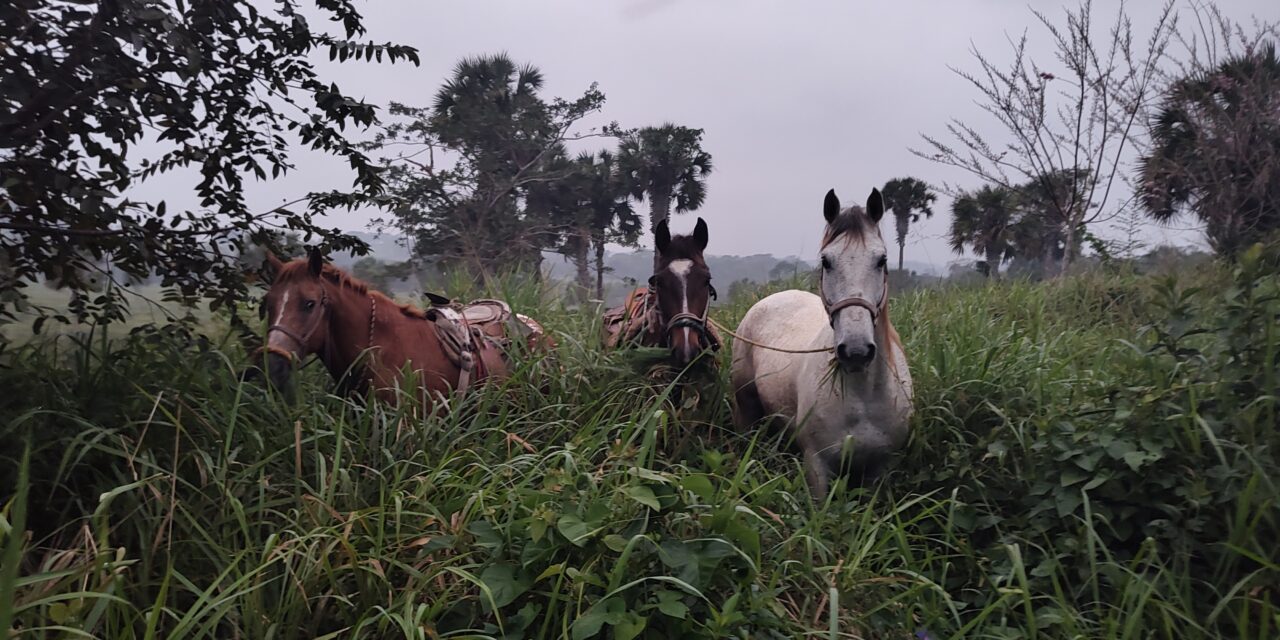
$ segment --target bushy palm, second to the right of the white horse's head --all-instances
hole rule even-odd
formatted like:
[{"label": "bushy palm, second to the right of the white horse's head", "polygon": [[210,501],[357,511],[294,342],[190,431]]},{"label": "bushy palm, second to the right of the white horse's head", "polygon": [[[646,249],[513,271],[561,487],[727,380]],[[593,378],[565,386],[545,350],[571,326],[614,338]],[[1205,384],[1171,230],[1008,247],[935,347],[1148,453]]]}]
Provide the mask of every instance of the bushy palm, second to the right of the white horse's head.
[{"label": "bushy palm, second to the right of the white horse's head", "polygon": [[1010,228],[1016,221],[1018,193],[986,186],[960,193],[951,204],[951,251],[965,247],[986,257],[987,278],[1000,278],[1000,264],[1012,256]]}]

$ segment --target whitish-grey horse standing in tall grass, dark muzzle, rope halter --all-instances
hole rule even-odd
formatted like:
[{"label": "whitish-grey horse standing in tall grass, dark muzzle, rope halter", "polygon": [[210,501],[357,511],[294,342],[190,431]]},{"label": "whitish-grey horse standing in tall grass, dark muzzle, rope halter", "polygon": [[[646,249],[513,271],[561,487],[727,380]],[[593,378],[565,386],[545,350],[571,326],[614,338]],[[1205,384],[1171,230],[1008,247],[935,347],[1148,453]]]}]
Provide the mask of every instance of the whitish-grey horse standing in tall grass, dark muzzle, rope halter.
[{"label": "whitish-grey horse standing in tall grass, dark muzzle, rope halter", "polygon": [[906,443],[911,416],[911,374],[888,319],[884,201],[872,189],[865,211],[841,211],[832,189],[823,215],[819,294],[785,291],[751,306],[732,369],[739,428],[785,420],[819,500],[836,474],[879,476]]}]

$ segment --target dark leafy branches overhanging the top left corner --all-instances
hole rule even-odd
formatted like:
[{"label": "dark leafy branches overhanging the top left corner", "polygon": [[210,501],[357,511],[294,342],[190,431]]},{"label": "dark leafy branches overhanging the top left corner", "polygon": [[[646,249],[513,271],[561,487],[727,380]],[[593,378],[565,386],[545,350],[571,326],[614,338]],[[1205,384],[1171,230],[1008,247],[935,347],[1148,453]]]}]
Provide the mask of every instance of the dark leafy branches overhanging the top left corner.
[{"label": "dark leafy branches overhanging the top left corner", "polygon": [[[316,9],[337,33],[314,29],[293,3],[0,4],[0,319],[15,317],[41,279],[69,288],[78,316],[122,316],[120,291],[91,294],[90,274],[157,275],[187,302],[234,302],[244,292],[236,256],[269,230],[358,248],[314,216],[381,202],[383,178],[347,137],[374,123],[375,108],[312,59],[328,50],[417,64],[417,52],[358,41],[351,3]],[[294,145],[344,159],[353,188],[251,210],[246,177],[289,172]],[[197,210],[133,192],[183,168],[198,173]]]}]

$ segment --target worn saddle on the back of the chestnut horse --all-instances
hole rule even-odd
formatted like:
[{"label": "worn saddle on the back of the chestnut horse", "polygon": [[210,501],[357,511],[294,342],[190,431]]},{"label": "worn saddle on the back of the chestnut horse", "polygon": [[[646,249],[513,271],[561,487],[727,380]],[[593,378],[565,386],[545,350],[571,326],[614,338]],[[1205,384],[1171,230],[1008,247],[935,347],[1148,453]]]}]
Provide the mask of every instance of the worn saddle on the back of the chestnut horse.
[{"label": "worn saddle on the back of the chestnut horse", "polygon": [[468,305],[434,293],[426,294],[431,308],[426,319],[435,326],[444,355],[461,370],[457,390],[465,392],[471,378],[486,378],[481,355],[497,349],[503,362],[511,362],[511,346],[518,339],[525,348],[550,344],[547,330],[534,319],[515,314],[500,300],[476,300]]}]

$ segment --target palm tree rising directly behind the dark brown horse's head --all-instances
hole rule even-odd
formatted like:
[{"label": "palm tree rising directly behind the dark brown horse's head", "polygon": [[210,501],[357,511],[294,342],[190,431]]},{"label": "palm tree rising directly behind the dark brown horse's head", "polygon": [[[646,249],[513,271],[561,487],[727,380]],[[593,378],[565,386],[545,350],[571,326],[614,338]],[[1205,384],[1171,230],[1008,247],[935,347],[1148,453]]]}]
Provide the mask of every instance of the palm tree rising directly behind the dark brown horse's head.
[{"label": "palm tree rising directly behind the dark brown horse's head", "polygon": [[[618,169],[631,197],[649,198],[649,230],[676,212],[694,211],[707,198],[712,156],[701,147],[703,129],[666,123],[645,127],[622,140]],[[657,256],[654,256],[657,266]]]}]

